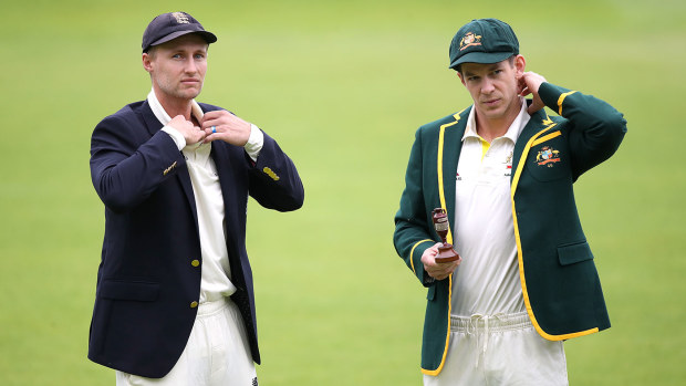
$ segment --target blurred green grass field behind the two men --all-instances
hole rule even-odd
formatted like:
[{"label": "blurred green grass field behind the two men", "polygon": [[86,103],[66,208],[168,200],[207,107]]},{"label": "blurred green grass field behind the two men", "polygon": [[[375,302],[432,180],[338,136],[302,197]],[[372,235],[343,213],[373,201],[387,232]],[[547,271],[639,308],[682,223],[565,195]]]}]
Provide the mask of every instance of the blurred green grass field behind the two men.
[{"label": "blurred green grass field behind the two men", "polygon": [[219,41],[198,98],[274,136],[305,206],[251,202],[262,385],[420,385],[425,292],[393,216],[413,134],[470,103],[447,69],[455,31],[496,17],[528,70],[625,113],[614,158],[576,184],[613,327],[568,342],[572,385],[686,382],[686,3],[10,1],[0,23],[0,385],[113,385],[86,359],[103,207],[94,125],[142,100],[141,35],[184,10]]}]

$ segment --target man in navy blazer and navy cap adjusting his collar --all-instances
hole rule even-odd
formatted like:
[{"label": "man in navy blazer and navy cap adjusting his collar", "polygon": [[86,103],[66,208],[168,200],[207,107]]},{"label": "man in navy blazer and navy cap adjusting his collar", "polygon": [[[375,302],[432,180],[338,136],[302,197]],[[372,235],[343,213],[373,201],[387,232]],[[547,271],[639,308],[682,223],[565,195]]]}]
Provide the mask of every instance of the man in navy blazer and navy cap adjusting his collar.
[{"label": "man in navy blazer and navy cap adjusting his collar", "polygon": [[248,196],[289,211],[304,190],[274,139],[195,102],[216,40],[188,13],[155,18],[143,36],[153,90],[93,132],[105,236],[89,358],[117,385],[257,385]]}]

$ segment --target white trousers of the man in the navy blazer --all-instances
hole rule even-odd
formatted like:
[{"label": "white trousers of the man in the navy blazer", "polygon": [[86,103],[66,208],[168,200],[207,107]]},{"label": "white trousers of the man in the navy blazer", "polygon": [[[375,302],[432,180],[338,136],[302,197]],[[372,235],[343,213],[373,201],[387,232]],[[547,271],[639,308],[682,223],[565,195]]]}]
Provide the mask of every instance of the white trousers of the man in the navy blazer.
[{"label": "white trousers of the man in the navy blazer", "polygon": [[184,353],[163,378],[116,372],[117,386],[257,386],[246,327],[228,298],[198,305]]}]

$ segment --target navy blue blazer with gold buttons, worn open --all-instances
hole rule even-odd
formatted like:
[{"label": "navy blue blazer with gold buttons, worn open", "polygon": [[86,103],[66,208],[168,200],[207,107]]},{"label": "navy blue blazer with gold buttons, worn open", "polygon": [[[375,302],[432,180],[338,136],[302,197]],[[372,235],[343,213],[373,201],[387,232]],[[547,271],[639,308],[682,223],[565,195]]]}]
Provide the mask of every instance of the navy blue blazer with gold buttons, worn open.
[{"label": "navy blue blazer with gold buttons, worn open", "polygon": [[[202,111],[220,107],[200,104]],[[200,295],[200,239],[186,161],[147,101],[104,118],[91,139],[91,178],[105,205],[89,358],[159,378],[176,364]],[[302,181],[291,159],[264,134],[257,163],[239,146],[214,142],[226,208],[231,296],[260,363],[252,271],[246,251],[248,195],[279,211],[300,208]]]}]

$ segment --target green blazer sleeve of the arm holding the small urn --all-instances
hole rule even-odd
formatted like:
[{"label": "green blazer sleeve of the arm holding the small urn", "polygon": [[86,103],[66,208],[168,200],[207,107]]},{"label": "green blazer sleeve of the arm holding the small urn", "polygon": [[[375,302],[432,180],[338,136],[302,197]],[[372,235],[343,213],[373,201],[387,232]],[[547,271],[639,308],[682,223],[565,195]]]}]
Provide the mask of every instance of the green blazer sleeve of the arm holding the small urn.
[{"label": "green blazer sleeve of the arm holding the small urn", "polygon": [[428,232],[426,206],[423,194],[422,128],[415,135],[407,171],[405,190],[401,196],[401,208],[395,215],[393,243],[397,254],[414,272],[424,286],[434,283],[434,279],[424,271],[422,254],[436,241]]}]

